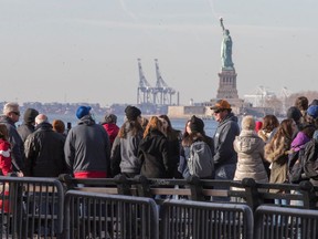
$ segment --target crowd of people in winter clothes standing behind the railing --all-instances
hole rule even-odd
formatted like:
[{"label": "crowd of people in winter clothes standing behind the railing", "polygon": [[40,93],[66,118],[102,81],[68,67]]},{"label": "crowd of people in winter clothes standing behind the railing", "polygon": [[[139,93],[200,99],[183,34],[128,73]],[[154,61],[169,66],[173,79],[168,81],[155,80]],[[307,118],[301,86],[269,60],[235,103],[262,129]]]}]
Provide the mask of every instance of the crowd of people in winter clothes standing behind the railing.
[{"label": "crowd of people in winter clothes standing behind the railing", "polygon": [[[105,178],[123,174],[148,178],[188,178],[318,185],[318,105],[305,96],[278,121],[275,115],[241,125],[231,105],[220,100],[211,107],[219,123],[214,135],[193,115],[184,131],[173,128],[167,115],[141,116],[136,106],[125,108],[125,122],[107,114],[96,123],[89,106],[76,111],[78,123],[65,132],[63,121],[28,108],[23,123],[19,104],[7,103],[0,116],[0,174],[75,178]],[[274,189],[273,189],[274,190]],[[274,191],[278,193],[278,191]],[[280,201],[282,202],[282,201]],[[282,202],[283,204],[283,202]]]}]

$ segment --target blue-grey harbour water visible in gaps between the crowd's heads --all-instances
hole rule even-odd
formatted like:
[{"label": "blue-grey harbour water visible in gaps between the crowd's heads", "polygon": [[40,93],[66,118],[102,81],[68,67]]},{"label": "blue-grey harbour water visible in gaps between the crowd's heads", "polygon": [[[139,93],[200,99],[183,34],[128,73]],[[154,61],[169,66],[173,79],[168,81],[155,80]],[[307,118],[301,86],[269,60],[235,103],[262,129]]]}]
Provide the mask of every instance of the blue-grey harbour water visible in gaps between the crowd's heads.
[{"label": "blue-grey harbour water visible in gaps between the crowd's heads", "polygon": [[[47,115],[49,121],[52,123],[53,119],[61,119],[65,123],[70,122],[72,124],[72,126],[75,126],[78,122],[78,119],[76,118],[76,116],[74,115],[63,115],[63,114],[52,114],[52,115]],[[95,115],[96,122],[103,122],[104,121],[104,115]],[[120,127],[124,123],[124,115],[117,115],[117,125]],[[172,127],[176,129],[181,131],[182,133],[184,132],[186,128],[186,123],[187,123],[187,118],[170,118]],[[205,134],[210,137],[212,137],[214,135],[214,132],[218,126],[218,122],[213,121],[213,119],[203,119],[204,122],[204,131]]]}]

